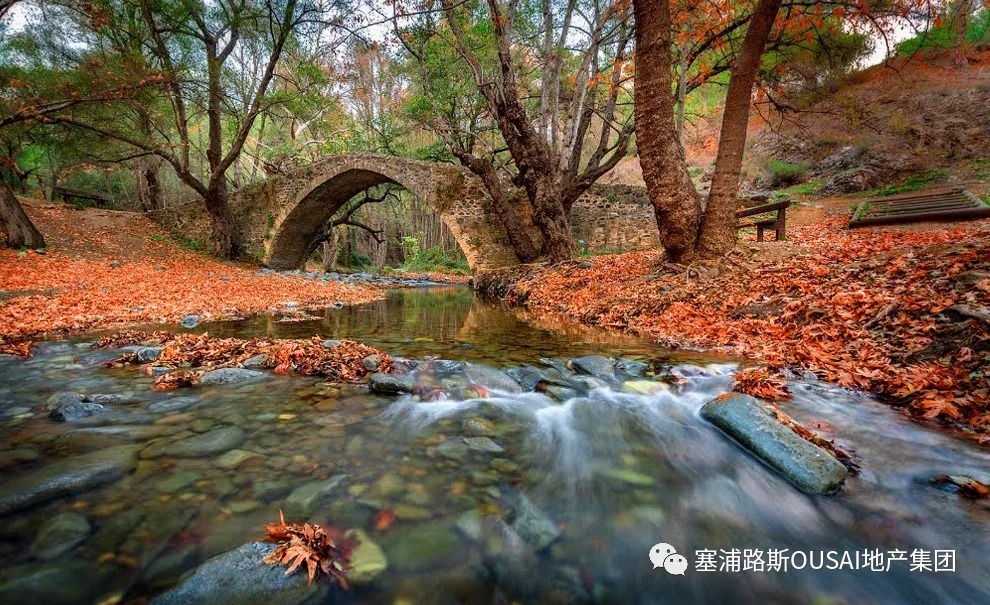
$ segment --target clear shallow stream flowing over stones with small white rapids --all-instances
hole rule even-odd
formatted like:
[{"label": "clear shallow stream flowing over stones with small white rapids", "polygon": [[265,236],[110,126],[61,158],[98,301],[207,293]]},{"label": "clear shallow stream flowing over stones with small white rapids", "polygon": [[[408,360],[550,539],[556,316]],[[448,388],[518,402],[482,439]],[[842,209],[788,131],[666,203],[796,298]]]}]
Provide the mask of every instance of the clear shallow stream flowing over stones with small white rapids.
[{"label": "clear shallow stream flowing over stones with small white rapids", "polygon": [[[104,368],[120,351],[93,350],[92,337],[42,343],[27,360],[2,358],[0,494],[30,491],[52,468],[78,474],[74,461],[91,452],[139,459],[110,483],[67,485],[2,517],[6,602],[140,601],[260,538],[279,509],[364,528],[382,548],[387,570],[336,602],[990,602],[990,507],[928,484],[941,473],[986,481],[990,453],[868,397],[792,382],[785,411],[862,465],[838,494],[813,497],[699,417],[731,388],[731,359],[537,321],[462,288],[395,292],[306,322],[253,318],[197,330],[320,334],[410,359],[467,362],[425,363],[420,379],[455,392],[468,376],[491,396],[423,402],[274,375],[158,392],[151,376]],[[667,386],[641,394],[650,390],[643,381],[589,381],[540,361],[587,354],[643,360]],[[555,398],[514,392],[493,371],[525,384],[529,374],[513,369],[524,365],[585,388]],[[46,399],[67,390],[123,403],[92,423],[49,420]],[[197,436],[210,437],[210,453],[190,445]],[[396,520],[376,531],[382,510]],[[687,558],[683,576],[654,569],[649,553],[660,542]],[[886,561],[880,570],[736,570],[734,549],[740,557],[749,550],[750,560],[759,551],[765,565],[771,551],[809,553],[812,563],[820,551],[895,558],[889,570]],[[919,553],[936,550],[954,552],[954,571],[912,570],[924,563]],[[710,551],[725,569],[699,571],[699,553]]]}]

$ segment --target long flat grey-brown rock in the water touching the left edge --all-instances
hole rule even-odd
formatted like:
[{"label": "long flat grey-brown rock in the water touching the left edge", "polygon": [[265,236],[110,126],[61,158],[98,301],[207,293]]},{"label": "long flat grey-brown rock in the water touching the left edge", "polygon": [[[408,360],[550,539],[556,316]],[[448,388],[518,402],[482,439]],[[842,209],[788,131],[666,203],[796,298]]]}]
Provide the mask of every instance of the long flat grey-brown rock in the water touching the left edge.
[{"label": "long flat grey-brown rock in the water touching the left edge", "polygon": [[136,448],[117,446],[59,460],[0,485],[0,514],[91,490],[137,466]]}]

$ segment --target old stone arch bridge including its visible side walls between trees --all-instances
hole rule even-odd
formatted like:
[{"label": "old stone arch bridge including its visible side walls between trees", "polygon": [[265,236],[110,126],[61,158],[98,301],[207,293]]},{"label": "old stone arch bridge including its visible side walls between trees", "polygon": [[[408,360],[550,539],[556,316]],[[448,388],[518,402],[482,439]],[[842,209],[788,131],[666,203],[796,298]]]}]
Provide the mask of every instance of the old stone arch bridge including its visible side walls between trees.
[{"label": "old stone arch bridge including its visible side walls between trees", "polygon": [[[231,206],[248,253],[273,269],[295,269],[306,261],[319,230],[348,200],[384,183],[403,187],[436,210],[475,272],[518,263],[481,180],[453,164],[338,155],[240,189],[232,194]],[[529,221],[525,206],[520,211]],[[158,218],[185,237],[209,239],[209,221],[200,203],[162,211]],[[575,239],[595,252],[659,245],[653,209],[642,187],[596,185],[575,203],[572,224]]]}]

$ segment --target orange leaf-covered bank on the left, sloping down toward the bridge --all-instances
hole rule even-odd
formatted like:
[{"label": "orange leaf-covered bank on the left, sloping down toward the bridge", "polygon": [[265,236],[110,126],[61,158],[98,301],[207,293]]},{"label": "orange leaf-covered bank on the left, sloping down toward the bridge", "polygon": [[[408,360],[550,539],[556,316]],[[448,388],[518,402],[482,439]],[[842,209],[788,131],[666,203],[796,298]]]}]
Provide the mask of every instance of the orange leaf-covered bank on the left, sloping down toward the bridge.
[{"label": "orange leaf-covered bank on the left, sloping down toward the bridge", "polygon": [[372,288],[259,275],[181,247],[141,215],[40,202],[25,208],[49,248],[0,249],[0,340],[381,297]]}]

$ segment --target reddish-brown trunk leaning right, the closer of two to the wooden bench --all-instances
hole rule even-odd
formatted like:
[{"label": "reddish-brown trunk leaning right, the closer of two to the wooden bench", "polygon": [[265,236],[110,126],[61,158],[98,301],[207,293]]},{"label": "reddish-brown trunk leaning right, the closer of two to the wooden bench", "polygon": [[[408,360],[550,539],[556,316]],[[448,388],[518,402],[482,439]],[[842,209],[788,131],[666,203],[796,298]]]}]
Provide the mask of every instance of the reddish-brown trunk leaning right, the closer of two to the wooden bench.
[{"label": "reddish-brown trunk leaning right, the closer of two to the wooden bench", "polygon": [[737,196],[753,85],[780,5],[781,0],[760,0],[746,30],[742,50],[732,67],[722,113],[715,173],[712,175],[711,193],[705,206],[704,224],[698,242],[698,252],[705,257],[720,256],[736,245]]}]

